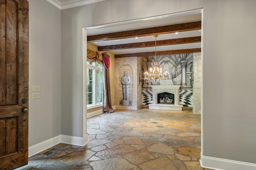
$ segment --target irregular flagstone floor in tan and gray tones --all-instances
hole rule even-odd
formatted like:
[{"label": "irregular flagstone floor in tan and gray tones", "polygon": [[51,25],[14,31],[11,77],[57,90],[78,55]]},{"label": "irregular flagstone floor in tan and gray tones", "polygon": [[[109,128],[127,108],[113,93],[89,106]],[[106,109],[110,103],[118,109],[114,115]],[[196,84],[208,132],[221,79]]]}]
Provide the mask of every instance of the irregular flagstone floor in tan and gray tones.
[{"label": "irregular flagstone floor in tan and gray tones", "polygon": [[60,143],[17,170],[208,170],[200,121],[191,111],[115,109],[88,118],[88,145]]}]

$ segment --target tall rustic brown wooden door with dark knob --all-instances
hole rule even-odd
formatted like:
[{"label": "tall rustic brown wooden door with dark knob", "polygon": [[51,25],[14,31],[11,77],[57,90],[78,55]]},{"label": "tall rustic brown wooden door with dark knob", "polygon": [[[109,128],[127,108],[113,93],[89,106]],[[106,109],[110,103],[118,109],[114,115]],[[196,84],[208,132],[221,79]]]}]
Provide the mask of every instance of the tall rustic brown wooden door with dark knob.
[{"label": "tall rustic brown wooden door with dark knob", "polygon": [[0,0],[0,169],[28,164],[28,2]]}]

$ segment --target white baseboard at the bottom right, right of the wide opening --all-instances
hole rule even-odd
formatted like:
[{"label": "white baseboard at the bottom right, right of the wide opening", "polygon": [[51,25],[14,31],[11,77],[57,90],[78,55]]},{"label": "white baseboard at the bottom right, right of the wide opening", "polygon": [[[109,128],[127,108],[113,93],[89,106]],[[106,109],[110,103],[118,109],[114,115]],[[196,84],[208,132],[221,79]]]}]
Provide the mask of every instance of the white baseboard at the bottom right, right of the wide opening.
[{"label": "white baseboard at the bottom right, right of the wide opening", "polygon": [[203,156],[202,153],[200,165],[213,170],[256,170],[256,164]]}]

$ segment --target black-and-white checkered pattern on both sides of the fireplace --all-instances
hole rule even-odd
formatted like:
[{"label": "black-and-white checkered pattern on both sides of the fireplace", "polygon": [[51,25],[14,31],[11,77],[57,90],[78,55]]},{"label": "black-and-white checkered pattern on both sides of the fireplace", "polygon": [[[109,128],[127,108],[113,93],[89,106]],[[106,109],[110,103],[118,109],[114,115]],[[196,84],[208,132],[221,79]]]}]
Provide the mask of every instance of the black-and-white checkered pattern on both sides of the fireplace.
[{"label": "black-and-white checkered pattern on both sides of the fireplace", "polygon": [[[152,103],[152,89],[142,89],[142,105]],[[180,104],[193,107],[193,90],[180,90]]]}]

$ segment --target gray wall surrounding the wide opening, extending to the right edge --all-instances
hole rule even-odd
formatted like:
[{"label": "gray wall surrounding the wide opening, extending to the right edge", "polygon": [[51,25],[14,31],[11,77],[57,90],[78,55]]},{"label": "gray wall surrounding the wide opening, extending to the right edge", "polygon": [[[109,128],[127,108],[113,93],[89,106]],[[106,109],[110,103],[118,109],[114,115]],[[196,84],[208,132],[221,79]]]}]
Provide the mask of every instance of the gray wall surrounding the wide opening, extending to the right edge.
[{"label": "gray wall surrounding the wide opening, extending to the right edge", "polygon": [[202,153],[256,163],[255,7],[255,0],[107,0],[62,10],[62,134],[82,137],[82,27],[203,8]]}]

